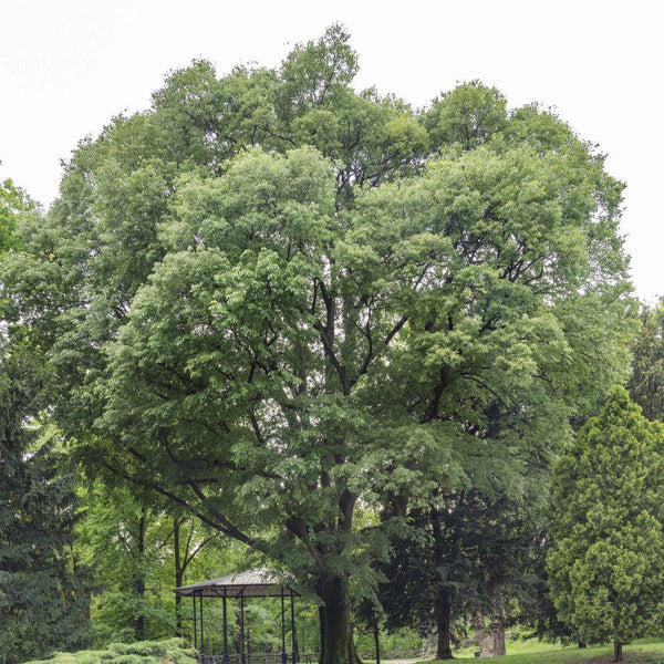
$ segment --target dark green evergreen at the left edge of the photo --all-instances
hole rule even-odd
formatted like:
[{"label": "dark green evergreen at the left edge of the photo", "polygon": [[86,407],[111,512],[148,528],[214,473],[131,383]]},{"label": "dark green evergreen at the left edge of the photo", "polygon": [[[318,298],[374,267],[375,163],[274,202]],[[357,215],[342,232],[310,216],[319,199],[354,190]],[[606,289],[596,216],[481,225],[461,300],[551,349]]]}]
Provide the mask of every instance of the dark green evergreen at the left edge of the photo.
[{"label": "dark green evergreen at the left edge of the photo", "polygon": [[73,478],[32,419],[40,372],[1,352],[0,652],[13,663],[86,645],[90,598],[72,552]]}]

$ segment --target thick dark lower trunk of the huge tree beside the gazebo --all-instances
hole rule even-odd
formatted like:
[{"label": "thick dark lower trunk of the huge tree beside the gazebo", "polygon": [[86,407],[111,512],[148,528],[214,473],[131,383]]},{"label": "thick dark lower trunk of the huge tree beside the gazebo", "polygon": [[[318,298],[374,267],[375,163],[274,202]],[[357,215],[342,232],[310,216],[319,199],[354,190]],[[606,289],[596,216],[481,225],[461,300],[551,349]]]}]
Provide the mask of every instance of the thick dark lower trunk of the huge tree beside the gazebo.
[{"label": "thick dark lower trunk of the huge tree beside the gazebo", "polygon": [[341,577],[321,577],[318,594],[323,601],[320,664],[360,664],[353,644],[347,581]]}]

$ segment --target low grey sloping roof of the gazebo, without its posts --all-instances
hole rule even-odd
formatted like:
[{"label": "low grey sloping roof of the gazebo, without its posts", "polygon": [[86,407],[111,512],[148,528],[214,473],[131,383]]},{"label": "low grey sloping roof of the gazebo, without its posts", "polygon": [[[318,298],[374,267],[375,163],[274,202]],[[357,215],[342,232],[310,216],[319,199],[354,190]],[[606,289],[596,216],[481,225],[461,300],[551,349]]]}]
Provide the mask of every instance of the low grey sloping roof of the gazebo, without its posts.
[{"label": "low grey sloping roof of the gazebo, without its posts", "polygon": [[286,574],[279,574],[274,570],[261,568],[249,572],[228,574],[219,579],[199,581],[190,585],[181,585],[173,592],[184,596],[197,598],[278,598],[281,594],[299,594],[284,581]]}]

